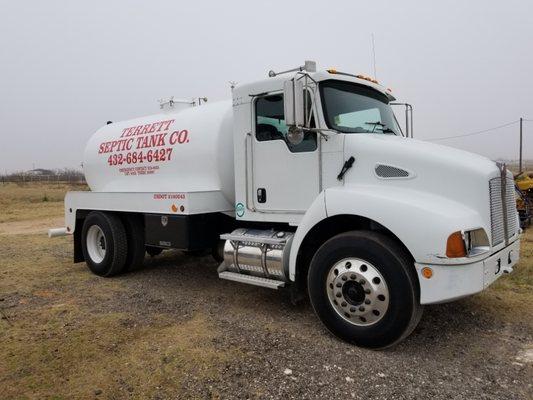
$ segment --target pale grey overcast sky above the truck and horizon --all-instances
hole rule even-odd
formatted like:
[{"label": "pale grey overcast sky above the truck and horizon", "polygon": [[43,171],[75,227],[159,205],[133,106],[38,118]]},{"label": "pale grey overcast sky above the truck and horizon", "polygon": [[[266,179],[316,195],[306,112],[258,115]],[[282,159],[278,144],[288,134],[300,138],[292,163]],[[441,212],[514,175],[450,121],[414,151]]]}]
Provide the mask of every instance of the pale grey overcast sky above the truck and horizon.
[{"label": "pale grey overcast sky above the truck and horizon", "polygon": [[[414,105],[415,137],[533,120],[533,2],[0,0],[0,172],[78,167],[107,120],[315,60]],[[400,116],[399,116],[400,117]],[[403,121],[403,117],[399,118]],[[524,123],[533,158],[533,122]],[[518,124],[440,141],[518,157]]]}]

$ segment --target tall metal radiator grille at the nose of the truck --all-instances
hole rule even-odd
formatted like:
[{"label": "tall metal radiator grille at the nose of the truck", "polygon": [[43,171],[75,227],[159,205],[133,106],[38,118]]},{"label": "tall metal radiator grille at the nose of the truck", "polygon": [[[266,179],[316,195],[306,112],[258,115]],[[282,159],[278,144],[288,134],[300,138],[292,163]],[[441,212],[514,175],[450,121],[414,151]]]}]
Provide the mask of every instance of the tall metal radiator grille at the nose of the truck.
[{"label": "tall metal radiator grille at the nose of the truck", "polygon": [[496,246],[505,240],[504,209],[507,214],[507,237],[513,236],[518,227],[516,222],[516,199],[514,181],[506,178],[505,201],[502,202],[502,180],[500,177],[489,181],[490,192],[490,228],[492,245]]}]

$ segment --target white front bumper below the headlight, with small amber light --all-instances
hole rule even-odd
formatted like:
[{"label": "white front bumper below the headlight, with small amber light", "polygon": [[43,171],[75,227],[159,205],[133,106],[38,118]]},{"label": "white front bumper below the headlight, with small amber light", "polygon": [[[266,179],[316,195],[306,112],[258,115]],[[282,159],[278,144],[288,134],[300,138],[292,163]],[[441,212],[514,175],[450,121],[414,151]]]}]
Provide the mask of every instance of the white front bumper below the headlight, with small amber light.
[{"label": "white front bumper below the headlight, with small amber light", "polygon": [[[415,263],[420,282],[420,304],[444,303],[479,293],[504,273],[513,271],[520,255],[520,240],[470,264],[429,265]],[[422,275],[422,268],[433,270],[431,278]]]}]

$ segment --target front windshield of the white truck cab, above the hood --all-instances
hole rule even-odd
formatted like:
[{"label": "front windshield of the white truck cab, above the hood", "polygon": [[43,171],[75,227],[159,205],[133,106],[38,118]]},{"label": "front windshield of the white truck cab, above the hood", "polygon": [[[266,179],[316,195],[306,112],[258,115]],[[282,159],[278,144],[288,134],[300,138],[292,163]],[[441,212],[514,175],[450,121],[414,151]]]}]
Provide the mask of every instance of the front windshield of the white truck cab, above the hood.
[{"label": "front windshield of the white truck cab, above the hood", "polygon": [[351,82],[325,81],[320,84],[320,92],[330,129],[400,135],[387,96],[377,90]]}]

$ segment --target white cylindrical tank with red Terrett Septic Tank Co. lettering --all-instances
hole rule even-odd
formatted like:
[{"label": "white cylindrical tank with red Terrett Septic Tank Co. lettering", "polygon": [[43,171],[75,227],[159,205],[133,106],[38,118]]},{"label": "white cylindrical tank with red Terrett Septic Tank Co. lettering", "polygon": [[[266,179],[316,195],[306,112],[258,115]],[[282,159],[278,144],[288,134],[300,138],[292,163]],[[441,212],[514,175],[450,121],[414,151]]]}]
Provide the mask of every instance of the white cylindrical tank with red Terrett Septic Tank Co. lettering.
[{"label": "white cylindrical tank with red Terrett Septic Tank Co. lettering", "polygon": [[83,169],[95,192],[221,191],[234,203],[231,101],[169,110],[100,128]]}]

